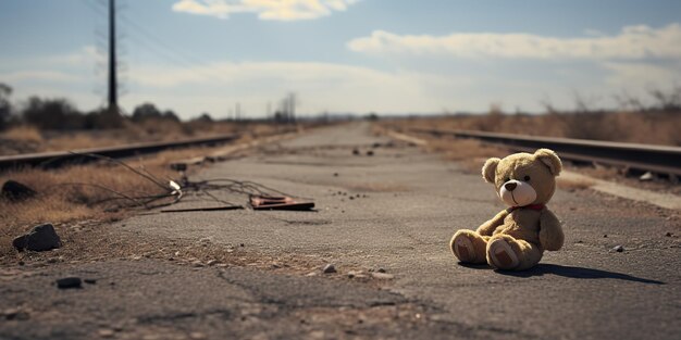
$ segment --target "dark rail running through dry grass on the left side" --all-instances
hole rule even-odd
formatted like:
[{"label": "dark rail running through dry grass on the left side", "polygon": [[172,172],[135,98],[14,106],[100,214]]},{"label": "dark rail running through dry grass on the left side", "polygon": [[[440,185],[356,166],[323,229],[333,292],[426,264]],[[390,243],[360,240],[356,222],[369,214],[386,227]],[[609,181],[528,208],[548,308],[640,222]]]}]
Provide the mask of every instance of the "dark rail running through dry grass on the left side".
[{"label": "dark rail running through dry grass on the left side", "polygon": [[178,141],[144,142],[117,147],[81,149],[73,151],[57,151],[41,153],[26,153],[18,155],[0,156],[0,172],[11,168],[41,167],[55,168],[71,164],[82,164],[97,161],[88,154],[98,154],[112,159],[129,158],[139,154],[154,153],[168,149],[195,146],[215,146],[238,139],[242,135],[222,135],[215,137],[190,138]]}]

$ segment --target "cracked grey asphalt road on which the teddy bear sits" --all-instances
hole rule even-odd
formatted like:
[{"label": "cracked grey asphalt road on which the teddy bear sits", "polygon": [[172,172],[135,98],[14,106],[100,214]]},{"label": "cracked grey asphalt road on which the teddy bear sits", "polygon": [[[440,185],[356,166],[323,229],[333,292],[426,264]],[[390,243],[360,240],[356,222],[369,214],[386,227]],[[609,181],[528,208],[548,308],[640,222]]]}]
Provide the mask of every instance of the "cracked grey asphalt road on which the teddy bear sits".
[{"label": "cracked grey asphalt road on which the teddy bear sits", "polygon": [[[194,268],[162,260],[55,264],[0,281],[0,311],[5,311],[0,338],[677,339],[681,333],[678,212],[587,190],[558,191],[549,205],[564,222],[565,248],[547,252],[532,270],[502,273],[459,265],[447,249],[456,229],[475,228],[504,209],[492,188],[456,163],[372,136],[366,124],[313,130],[197,176],[215,177],[313,198],[318,211],[148,214],[115,229],[141,239],[244,243],[262,256],[334,263],[339,273]],[[624,252],[614,252],[615,245]],[[395,278],[347,278],[349,270],[376,268]],[[50,285],[66,274],[97,282],[74,290]],[[28,308],[28,316],[7,313],[16,307]]]}]

